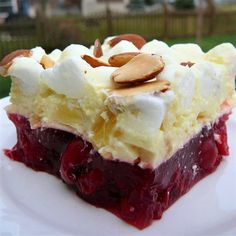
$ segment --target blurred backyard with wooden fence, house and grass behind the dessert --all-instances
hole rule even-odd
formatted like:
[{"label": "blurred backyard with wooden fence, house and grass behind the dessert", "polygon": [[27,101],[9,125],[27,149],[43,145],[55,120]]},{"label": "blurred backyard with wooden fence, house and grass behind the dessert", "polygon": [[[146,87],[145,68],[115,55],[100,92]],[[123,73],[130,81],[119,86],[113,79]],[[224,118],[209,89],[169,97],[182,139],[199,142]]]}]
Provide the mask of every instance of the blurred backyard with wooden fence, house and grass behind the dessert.
[{"label": "blurred backyard with wooden fence, house and grass behind the dessert", "polygon": [[[197,42],[204,51],[222,42],[236,46],[236,0],[0,0],[0,58],[123,33],[169,45]],[[0,77],[0,98],[9,87]]]}]

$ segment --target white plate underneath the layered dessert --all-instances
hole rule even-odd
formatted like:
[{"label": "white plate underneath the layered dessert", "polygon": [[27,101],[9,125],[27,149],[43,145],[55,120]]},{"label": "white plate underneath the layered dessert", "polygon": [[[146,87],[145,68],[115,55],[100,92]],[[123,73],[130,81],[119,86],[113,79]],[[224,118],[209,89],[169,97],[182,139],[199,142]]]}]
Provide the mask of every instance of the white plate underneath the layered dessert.
[{"label": "white plate underneath the layered dessert", "polygon": [[15,129],[0,100],[0,235],[236,235],[236,112],[228,122],[230,156],[150,227],[139,231],[80,200],[59,179],[6,158]]}]

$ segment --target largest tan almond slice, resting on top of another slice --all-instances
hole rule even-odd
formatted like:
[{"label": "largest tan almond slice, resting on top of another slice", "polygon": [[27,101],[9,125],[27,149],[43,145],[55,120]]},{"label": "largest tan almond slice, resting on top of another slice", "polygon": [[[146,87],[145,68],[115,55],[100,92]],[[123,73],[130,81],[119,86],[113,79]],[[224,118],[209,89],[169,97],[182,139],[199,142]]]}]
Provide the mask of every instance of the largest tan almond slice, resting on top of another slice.
[{"label": "largest tan almond slice, resting on top of another slice", "polygon": [[154,54],[139,54],[115,70],[111,78],[118,84],[133,84],[155,78],[164,68],[162,58]]}]

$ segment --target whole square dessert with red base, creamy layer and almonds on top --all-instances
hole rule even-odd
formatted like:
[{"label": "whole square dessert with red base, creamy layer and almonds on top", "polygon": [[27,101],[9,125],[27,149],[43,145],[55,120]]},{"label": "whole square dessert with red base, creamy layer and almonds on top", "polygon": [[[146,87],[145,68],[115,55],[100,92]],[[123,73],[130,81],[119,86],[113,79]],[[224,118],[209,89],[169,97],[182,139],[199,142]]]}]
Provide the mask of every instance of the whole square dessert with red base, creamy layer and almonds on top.
[{"label": "whole square dessert with red base, creamy layer and almonds on top", "polygon": [[118,35],[50,54],[17,50],[0,73],[12,79],[6,111],[17,131],[5,154],[139,229],[229,154],[230,43],[204,53],[196,44]]}]

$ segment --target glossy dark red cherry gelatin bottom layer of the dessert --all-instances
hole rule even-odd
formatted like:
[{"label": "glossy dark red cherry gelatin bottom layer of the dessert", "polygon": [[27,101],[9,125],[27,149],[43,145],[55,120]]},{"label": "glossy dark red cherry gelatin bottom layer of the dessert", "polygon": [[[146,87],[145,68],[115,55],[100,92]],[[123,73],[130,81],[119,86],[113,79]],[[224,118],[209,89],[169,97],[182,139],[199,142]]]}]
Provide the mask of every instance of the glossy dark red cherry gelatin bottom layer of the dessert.
[{"label": "glossy dark red cherry gelatin bottom layer of the dessert", "polygon": [[5,154],[35,170],[61,177],[78,195],[127,223],[143,229],[196,182],[216,169],[228,154],[222,116],[189,140],[156,169],[102,158],[81,137],[55,129],[30,128],[26,118],[9,114],[17,128],[17,144]]}]

